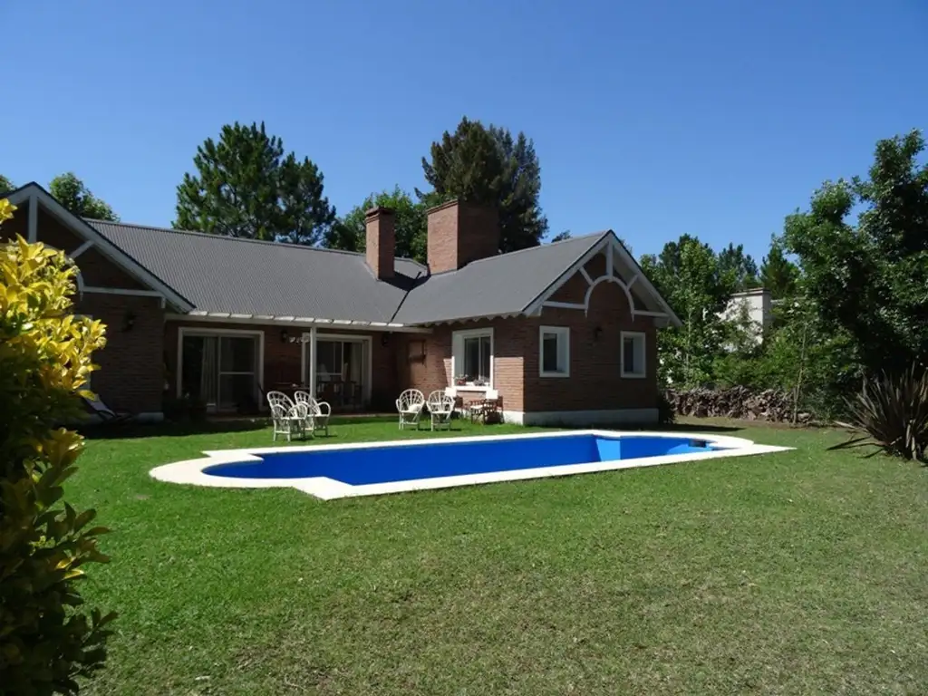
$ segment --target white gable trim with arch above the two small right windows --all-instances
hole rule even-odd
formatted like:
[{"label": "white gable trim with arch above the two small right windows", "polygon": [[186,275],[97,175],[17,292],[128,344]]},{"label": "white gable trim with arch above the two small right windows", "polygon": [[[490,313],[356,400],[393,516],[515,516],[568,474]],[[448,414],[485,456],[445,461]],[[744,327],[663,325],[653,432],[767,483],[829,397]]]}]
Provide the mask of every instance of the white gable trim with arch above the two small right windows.
[{"label": "white gable trim with arch above the two small right windows", "polygon": [[[606,273],[603,276],[598,278],[591,278],[588,273],[586,273],[586,263],[596,256],[598,253],[605,251],[606,254]],[[632,279],[625,283],[625,280],[621,277],[618,277],[614,274],[614,254],[618,254],[619,258],[625,261],[626,264],[630,265],[632,268],[638,270],[638,273]],[[563,307],[564,304],[574,304],[574,303],[551,303],[548,302],[548,298],[553,296],[555,292],[561,290],[561,287],[567,283],[570,278],[574,277],[578,272],[586,279],[588,288],[586,289],[586,297],[584,298],[584,303],[576,303],[572,307]],[[647,292],[651,297],[658,303],[661,307],[661,312],[651,312],[645,310],[639,310],[635,307],[635,301],[631,294],[631,287],[638,282],[640,279],[643,284],[645,292]],[[641,266],[638,265],[638,262],[635,261],[634,257],[628,253],[628,250],[625,249],[625,246],[619,241],[619,238],[615,236],[615,233],[612,230],[606,232],[603,237],[592,247],[590,247],[583,256],[581,256],[573,265],[570,266],[566,271],[564,271],[558,279],[548,286],[548,289],[545,290],[541,295],[539,295],[535,300],[530,303],[524,310],[524,314],[528,316],[537,316],[541,313],[543,307],[561,307],[567,309],[583,309],[586,313],[589,310],[589,300],[593,293],[593,289],[603,282],[612,282],[619,285],[622,290],[625,291],[625,297],[628,300],[628,306],[631,309],[632,316],[653,316],[653,317],[666,317],[669,322],[674,326],[682,326],[679,318],[670,306],[664,301],[664,298],[661,294],[651,285],[651,281],[648,280],[648,277],[644,275],[644,272],[641,270]]]}]

